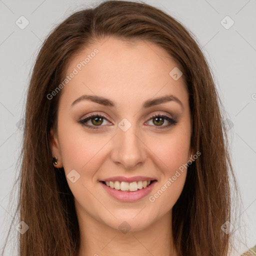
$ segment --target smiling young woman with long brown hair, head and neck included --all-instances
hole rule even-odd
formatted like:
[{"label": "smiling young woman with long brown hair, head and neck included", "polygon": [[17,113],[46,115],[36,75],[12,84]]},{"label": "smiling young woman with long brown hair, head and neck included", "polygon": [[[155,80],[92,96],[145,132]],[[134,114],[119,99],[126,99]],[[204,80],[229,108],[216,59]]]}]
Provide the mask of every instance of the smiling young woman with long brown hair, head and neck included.
[{"label": "smiling young woman with long brown hair, head and neck included", "polygon": [[227,255],[221,102],[196,40],[105,1],[45,39],[27,94],[20,255]]}]

